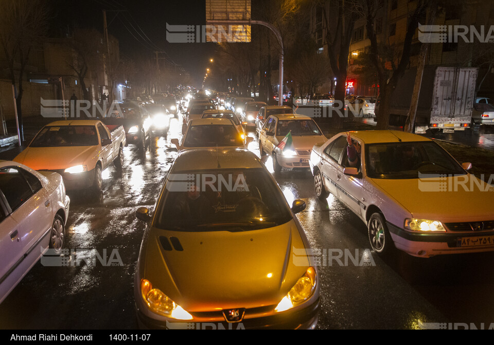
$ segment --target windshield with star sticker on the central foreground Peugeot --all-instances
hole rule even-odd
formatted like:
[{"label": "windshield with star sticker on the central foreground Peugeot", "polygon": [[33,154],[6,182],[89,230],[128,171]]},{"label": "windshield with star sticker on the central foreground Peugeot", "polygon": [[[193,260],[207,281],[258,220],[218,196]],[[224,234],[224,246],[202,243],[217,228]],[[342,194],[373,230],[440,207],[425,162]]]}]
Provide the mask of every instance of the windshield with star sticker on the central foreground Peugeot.
[{"label": "windshield with star sticker on the central foreground Peugeot", "polygon": [[237,232],[272,228],[290,219],[286,200],[265,169],[172,171],[153,226]]}]

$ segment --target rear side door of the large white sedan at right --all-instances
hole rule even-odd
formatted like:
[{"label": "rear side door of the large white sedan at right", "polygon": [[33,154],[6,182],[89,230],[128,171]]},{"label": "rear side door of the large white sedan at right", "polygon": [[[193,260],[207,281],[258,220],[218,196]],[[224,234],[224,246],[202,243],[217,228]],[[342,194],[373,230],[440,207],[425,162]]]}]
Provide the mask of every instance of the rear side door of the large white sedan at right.
[{"label": "rear side door of the large white sedan at right", "polygon": [[320,170],[323,175],[324,185],[329,192],[338,197],[338,171],[340,158],[346,150],[346,136],[340,136],[329,144],[321,156]]}]

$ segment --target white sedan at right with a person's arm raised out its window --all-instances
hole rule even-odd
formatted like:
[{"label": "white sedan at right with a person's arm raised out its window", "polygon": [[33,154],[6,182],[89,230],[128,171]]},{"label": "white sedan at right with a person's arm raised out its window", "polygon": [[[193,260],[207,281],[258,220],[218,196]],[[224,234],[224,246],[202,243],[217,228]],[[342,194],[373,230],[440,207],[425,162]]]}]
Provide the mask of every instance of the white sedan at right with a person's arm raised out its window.
[{"label": "white sedan at right with a person's arm raised out its window", "polygon": [[[494,187],[469,174],[434,141],[400,131],[339,133],[314,146],[320,199],[329,193],[366,225],[372,249],[418,257],[494,251]],[[360,164],[348,154],[361,148]],[[352,152],[352,150],[355,150]],[[354,160],[356,161],[356,160]],[[358,160],[357,160],[358,161]]]}]

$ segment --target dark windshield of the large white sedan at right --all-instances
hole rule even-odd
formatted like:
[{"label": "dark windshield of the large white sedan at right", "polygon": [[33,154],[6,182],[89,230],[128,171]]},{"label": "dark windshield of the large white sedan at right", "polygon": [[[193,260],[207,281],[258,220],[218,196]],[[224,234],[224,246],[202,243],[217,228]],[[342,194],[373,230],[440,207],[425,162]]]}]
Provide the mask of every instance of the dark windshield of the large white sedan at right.
[{"label": "dark windshield of the large white sedan at right", "polygon": [[365,146],[365,157],[367,176],[376,179],[466,174],[461,165],[434,142],[370,144]]}]

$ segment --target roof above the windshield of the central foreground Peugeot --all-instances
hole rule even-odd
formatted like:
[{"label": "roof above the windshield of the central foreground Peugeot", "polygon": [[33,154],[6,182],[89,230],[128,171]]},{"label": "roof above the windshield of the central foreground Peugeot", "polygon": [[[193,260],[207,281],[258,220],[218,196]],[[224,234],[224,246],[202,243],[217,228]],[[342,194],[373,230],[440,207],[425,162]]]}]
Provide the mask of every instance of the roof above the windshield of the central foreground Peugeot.
[{"label": "roof above the windshield of the central foreground Peugeot", "polygon": [[178,171],[199,169],[262,168],[257,156],[244,148],[197,148],[181,151],[170,169]]}]

